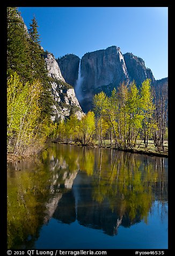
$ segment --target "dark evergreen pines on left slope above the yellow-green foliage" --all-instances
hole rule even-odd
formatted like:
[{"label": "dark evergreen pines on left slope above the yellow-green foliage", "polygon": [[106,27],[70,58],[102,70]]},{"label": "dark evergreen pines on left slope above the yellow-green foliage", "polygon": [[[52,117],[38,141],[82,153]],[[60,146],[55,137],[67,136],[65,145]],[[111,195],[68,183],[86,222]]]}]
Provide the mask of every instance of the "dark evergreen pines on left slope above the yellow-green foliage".
[{"label": "dark evergreen pines on left slope above the yellow-green foliage", "polygon": [[35,17],[27,31],[23,19],[16,7],[7,9],[7,70],[8,77],[17,72],[23,82],[39,80],[42,84],[40,104],[42,118],[50,116],[53,99],[51,83],[49,82],[44,51],[40,46],[38,25]]}]

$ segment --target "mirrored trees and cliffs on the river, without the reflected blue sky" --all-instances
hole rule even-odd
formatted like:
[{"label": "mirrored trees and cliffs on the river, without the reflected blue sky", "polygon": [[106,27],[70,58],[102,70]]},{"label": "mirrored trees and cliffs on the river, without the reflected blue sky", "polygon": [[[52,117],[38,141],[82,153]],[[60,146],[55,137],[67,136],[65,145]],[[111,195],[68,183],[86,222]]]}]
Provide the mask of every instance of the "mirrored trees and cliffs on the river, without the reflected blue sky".
[{"label": "mirrored trees and cliffs on the river, without the reflected blue sky", "polygon": [[8,165],[8,248],[34,248],[50,218],[103,230],[167,214],[167,159],[51,144],[41,158]]}]

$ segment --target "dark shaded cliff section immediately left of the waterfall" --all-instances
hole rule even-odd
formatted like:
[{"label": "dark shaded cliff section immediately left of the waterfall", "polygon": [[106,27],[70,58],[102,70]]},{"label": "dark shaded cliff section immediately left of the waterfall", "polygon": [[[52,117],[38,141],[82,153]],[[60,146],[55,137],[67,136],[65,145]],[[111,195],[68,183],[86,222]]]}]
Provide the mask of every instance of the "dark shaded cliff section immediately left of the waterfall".
[{"label": "dark shaded cliff section immediately left of the waterfall", "polygon": [[65,81],[71,86],[75,86],[78,79],[79,60],[79,57],[74,54],[67,54],[57,60]]}]

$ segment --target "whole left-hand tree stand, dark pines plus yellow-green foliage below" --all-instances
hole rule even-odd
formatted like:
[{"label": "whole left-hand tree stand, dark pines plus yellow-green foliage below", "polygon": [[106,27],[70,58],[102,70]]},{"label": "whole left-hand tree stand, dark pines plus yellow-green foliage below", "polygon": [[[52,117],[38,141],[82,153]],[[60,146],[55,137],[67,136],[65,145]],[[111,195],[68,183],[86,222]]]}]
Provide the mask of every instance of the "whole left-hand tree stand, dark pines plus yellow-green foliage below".
[{"label": "whole left-hand tree stand, dark pines plus yellow-green foliage below", "polygon": [[53,99],[37,20],[27,27],[16,7],[7,8],[8,152],[39,151],[55,129]]}]

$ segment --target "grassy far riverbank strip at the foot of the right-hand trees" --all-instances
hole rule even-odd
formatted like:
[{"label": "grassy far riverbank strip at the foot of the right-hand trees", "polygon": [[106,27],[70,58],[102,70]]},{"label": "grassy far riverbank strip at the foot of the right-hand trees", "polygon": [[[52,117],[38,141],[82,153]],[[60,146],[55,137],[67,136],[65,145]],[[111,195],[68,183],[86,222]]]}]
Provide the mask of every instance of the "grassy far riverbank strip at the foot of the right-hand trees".
[{"label": "grassy far riverbank strip at the foot of the right-hand trees", "polygon": [[[53,143],[58,144],[70,144],[70,145],[76,145],[76,146],[82,146],[81,144],[77,143],[64,143],[59,141],[52,141]],[[93,144],[91,144],[89,147],[99,147],[98,141],[94,141]],[[154,146],[154,141],[149,140],[148,141],[148,147],[145,148],[143,141],[137,141],[137,144],[134,148],[116,148],[115,145],[110,144],[110,140],[103,141],[104,148],[112,148],[113,150],[119,150],[119,151],[125,151],[130,153],[136,153],[136,154],[147,154],[150,156],[156,156],[156,157],[168,157],[168,141],[164,142],[164,151],[162,151],[160,148],[157,148]]]}]

